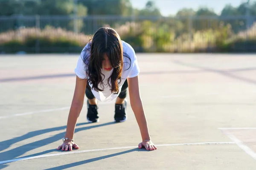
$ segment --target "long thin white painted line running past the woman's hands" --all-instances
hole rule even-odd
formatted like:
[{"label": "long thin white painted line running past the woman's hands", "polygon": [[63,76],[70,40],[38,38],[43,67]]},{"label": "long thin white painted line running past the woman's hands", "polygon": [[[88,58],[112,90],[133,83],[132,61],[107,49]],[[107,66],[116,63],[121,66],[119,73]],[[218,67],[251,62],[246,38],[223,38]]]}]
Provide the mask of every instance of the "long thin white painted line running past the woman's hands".
[{"label": "long thin white painted line running past the woman's hands", "polygon": [[[180,143],[180,144],[158,144],[156,146],[161,147],[161,146],[183,146],[183,145],[206,145],[206,144],[235,144],[235,142],[200,142],[200,143]],[[68,155],[68,154],[74,154],[74,153],[96,152],[96,151],[103,151],[103,150],[130,149],[130,148],[137,148],[137,147],[138,146],[128,146],[128,147],[113,147],[113,148],[93,149],[93,150],[63,151],[62,153],[54,153],[54,154],[39,155],[39,156],[32,156],[32,157],[26,157],[26,158],[17,158],[17,159],[11,159],[11,160],[6,160],[6,161],[0,161],[0,164],[7,164],[10,162],[23,161],[23,160],[29,160],[29,159],[46,158],[46,157],[50,157],[50,156]]]}]

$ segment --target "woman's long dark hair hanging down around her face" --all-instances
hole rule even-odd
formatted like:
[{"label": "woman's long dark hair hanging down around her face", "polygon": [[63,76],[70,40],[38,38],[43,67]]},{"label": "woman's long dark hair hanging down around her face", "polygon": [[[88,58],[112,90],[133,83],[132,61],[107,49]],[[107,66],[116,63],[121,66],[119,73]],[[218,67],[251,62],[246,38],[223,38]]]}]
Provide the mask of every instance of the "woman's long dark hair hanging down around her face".
[{"label": "woman's long dark hair hanging down around her face", "polygon": [[[119,34],[112,28],[102,27],[93,36],[93,39],[88,42],[88,48],[85,51],[83,60],[86,64],[86,73],[88,76],[88,82],[91,82],[92,88],[95,91],[103,91],[99,85],[103,87],[102,78],[102,62],[106,55],[109,59],[110,65],[113,68],[113,73],[108,78],[108,85],[111,87],[111,92],[114,94],[119,93],[119,83],[121,82],[121,75],[124,66],[123,56],[130,57],[123,52],[122,41]],[[90,56],[88,56],[90,54]],[[104,75],[103,75],[104,76]],[[111,85],[110,83],[111,82]]]}]

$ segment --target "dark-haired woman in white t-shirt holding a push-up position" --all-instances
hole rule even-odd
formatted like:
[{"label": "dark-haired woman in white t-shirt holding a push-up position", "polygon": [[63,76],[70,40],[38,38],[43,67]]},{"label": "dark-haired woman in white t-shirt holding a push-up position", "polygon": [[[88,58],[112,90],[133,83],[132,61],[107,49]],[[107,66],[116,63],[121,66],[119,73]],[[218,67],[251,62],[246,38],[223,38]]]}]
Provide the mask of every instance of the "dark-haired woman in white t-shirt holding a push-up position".
[{"label": "dark-haired woman in white t-shirt holding a push-up position", "polygon": [[73,135],[76,122],[87,100],[87,120],[98,122],[97,102],[108,102],[116,99],[114,119],[123,122],[126,119],[126,90],[129,89],[131,108],[134,111],[140,128],[142,142],[138,147],[146,150],[157,149],[151,142],[143,104],[140,98],[140,72],[134,49],[122,41],[112,28],[99,28],[81,52],[75,69],[76,87],[67,120],[67,130],[63,144],[58,150],[79,149],[74,143]]}]

